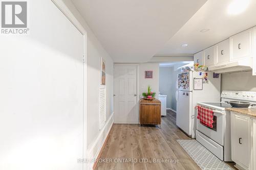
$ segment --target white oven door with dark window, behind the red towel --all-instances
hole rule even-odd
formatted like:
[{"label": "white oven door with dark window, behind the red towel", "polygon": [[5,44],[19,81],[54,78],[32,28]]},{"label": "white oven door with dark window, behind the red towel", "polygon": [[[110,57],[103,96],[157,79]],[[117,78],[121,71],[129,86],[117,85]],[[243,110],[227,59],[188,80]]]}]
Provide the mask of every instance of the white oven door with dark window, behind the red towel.
[{"label": "white oven door with dark window, behind the red towel", "polygon": [[[205,107],[210,110],[212,108]],[[198,110],[196,110],[197,113]],[[200,120],[197,119],[197,130],[204,135],[208,136],[217,143],[224,145],[224,119],[225,111],[214,110],[214,128],[208,128],[200,123]]]}]

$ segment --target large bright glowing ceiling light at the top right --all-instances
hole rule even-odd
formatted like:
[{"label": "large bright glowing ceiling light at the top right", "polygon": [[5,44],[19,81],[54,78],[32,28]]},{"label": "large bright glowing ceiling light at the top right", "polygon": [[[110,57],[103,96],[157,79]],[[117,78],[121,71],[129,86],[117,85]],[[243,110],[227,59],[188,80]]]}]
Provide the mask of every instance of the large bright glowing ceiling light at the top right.
[{"label": "large bright glowing ceiling light at the top right", "polygon": [[227,13],[229,15],[238,15],[244,12],[250,4],[250,0],[233,0],[231,4],[229,4]]}]

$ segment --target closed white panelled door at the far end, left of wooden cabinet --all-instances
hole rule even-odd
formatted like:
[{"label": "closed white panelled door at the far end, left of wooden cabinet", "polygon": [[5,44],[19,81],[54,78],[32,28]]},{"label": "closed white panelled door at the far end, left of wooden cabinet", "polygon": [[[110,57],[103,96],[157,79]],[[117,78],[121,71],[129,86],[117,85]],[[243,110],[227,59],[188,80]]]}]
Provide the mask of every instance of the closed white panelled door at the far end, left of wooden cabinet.
[{"label": "closed white panelled door at the far end, left of wooden cabinet", "polygon": [[114,112],[116,124],[138,124],[137,65],[115,65]]}]

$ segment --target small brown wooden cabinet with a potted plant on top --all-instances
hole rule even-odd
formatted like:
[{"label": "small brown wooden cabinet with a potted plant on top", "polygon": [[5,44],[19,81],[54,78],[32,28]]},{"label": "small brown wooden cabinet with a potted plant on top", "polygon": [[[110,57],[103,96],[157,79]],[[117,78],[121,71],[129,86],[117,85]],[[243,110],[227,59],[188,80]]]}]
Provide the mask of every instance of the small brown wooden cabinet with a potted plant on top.
[{"label": "small brown wooden cabinet with a potted plant on top", "polygon": [[161,125],[161,102],[154,100],[140,100],[140,125]]}]

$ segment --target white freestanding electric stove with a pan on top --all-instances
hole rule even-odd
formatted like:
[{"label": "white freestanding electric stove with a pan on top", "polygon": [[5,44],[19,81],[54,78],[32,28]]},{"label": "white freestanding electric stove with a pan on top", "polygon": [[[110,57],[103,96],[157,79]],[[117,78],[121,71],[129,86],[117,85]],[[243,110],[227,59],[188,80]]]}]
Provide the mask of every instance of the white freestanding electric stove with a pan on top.
[{"label": "white freestanding electric stove with a pan on top", "polygon": [[214,111],[214,127],[212,129],[205,127],[200,123],[200,120],[197,120],[197,141],[224,161],[232,161],[230,111],[225,110],[225,108],[231,107],[231,105],[225,103],[229,101],[246,101],[256,104],[256,92],[223,90],[221,93],[221,102],[198,103],[198,105]]}]

